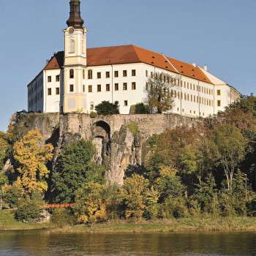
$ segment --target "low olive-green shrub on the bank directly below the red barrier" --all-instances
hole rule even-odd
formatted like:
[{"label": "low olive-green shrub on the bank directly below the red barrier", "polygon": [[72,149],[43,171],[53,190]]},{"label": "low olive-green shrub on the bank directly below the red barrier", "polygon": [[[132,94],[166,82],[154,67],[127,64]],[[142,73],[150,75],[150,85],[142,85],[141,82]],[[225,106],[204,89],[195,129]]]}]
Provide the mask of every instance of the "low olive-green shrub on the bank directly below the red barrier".
[{"label": "low olive-green shrub on the bank directly below the red barrier", "polygon": [[75,224],[75,217],[68,209],[56,209],[50,217],[50,222],[57,227],[72,226]]}]

